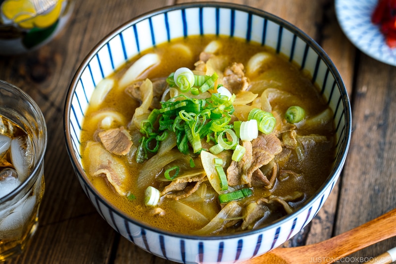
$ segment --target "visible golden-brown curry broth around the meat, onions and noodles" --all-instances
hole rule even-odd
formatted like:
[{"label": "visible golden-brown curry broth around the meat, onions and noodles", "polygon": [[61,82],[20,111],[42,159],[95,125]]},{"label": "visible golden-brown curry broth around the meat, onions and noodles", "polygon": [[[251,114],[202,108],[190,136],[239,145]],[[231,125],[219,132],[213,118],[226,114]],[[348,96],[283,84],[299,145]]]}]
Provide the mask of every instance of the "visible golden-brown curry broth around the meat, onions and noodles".
[{"label": "visible golden-brown curry broth around the meat, onions and noodles", "polygon": [[[193,69],[194,63],[198,61],[199,53],[210,41],[215,39],[221,40],[222,48],[220,53],[229,56],[230,62],[241,62],[246,65],[247,60],[255,53],[268,51],[267,48],[262,47],[259,44],[246,43],[244,40],[229,37],[196,36],[172,40],[169,43],[157,45],[155,48],[144,51],[141,54],[143,55],[145,53],[155,52],[161,57],[160,64],[154,69],[145,72],[141,79],[167,77],[171,72],[174,72],[179,67],[188,67]],[[175,44],[187,45],[191,50],[191,56],[186,56],[186,53],[181,52],[181,50],[177,48],[177,45],[175,48]],[[112,77],[114,77],[116,80],[119,79],[126,71],[128,66],[131,65],[136,59],[137,58],[134,58],[125,66],[115,71]],[[280,89],[293,93],[294,95],[298,95],[300,100],[304,102],[305,111],[308,116],[317,114],[328,107],[326,106],[324,99],[319,95],[318,89],[314,88],[312,85],[310,79],[301,73],[297,65],[290,63],[286,57],[283,57],[282,55],[276,55],[271,61],[270,68],[265,70],[264,75],[266,78],[272,80],[272,82],[276,82]],[[103,111],[103,109],[106,109],[123,113],[125,120],[127,120],[127,123],[123,124],[125,127],[128,126],[128,123],[132,119],[134,109],[139,106],[139,103],[131,97],[126,96],[124,92],[116,91],[117,89],[112,89],[109,92],[101,104],[99,110],[88,107],[81,134],[82,153],[84,152],[86,142],[95,140],[95,133],[98,129],[98,125],[87,120],[89,120],[91,116],[95,115],[97,111]],[[286,110],[286,106],[278,107],[280,109]],[[305,132],[301,131],[300,133],[304,134]],[[326,134],[326,136],[328,138],[332,138],[332,132]],[[331,170],[334,156],[334,143],[331,143],[323,146],[323,148],[315,150],[315,152],[312,152],[309,162],[298,162],[295,158],[296,162],[294,162],[294,164],[287,164],[284,169],[297,169],[301,172],[301,174],[304,175],[303,177],[294,177],[283,181],[277,180],[274,188],[271,191],[267,189],[254,189],[254,197],[268,196],[269,192],[273,195],[285,197],[298,190],[304,193],[304,197],[297,202],[290,203],[294,209],[297,209],[324,183]],[[121,158],[124,159],[125,163],[128,163],[126,157]],[[90,160],[83,156],[82,162],[84,169],[88,172],[87,168],[90,166]],[[138,176],[139,170],[142,167],[142,164],[137,163],[135,160],[132,162],[134,164],[132,166],[128,166],[128,188],[130,192],[135,195],[135,200],[128,200],[126,197],[118,195],[111,185],[105,180],[105,177],[92,177],[91,175],[88,175],[88,177],[92,181],[93,185],[98,189],[98,191],[106,199],[108,199],[111,204],[119,208],[121,211],[124,211],[131,217],[140,221],[144,221],[148,225],[180,233],[191,233],[192,230],[196,230],[204,226],[204,224],[188,221],[185,217],[168,210],[167,207],[171,202],[168,200],[170,199],[161,199],[160,202],[160,207],[166,211],[165,215],[155,217],[148,216],[148,212],[151,210],[151,208],[144,205],[144,190],[138,190],[136,187],[136,178]],[[199,164],[199,160],[196,160],[196,163]],[[153,182],[152,186],[160,188],[161,184],[163,185],[163,182]],[[203,184],[207,184],[207,187],[210,188],[210,184],[208,182],[204,182]],[[253,200],[254,197],[250,197],[248,200]],[[213,197],[211,205],[198,205],[198,211],[199,207],[202,206],[210,206],[213,208],[213,210],[217,211],[221,209],[216,197]],[[270,223],[284,214],[285,213],[282,211],[274,212],[261,224]],[[226,232],[230,233],[233,231],[227,230]]]}]

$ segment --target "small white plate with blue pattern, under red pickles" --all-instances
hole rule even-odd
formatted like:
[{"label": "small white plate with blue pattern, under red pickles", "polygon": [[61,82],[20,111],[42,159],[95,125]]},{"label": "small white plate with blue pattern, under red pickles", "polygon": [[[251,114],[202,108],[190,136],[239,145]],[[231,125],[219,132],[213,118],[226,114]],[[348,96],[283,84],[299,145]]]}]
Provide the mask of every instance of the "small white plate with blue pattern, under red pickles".
[{"label": "small white plate with blue pattern, under red pickles", "polygon": [[379,61],[396,66],[396,49],[385,43],[379,26],[371,23],[378,0],[336,0],[338,22],[347,38],[360,51]]}]

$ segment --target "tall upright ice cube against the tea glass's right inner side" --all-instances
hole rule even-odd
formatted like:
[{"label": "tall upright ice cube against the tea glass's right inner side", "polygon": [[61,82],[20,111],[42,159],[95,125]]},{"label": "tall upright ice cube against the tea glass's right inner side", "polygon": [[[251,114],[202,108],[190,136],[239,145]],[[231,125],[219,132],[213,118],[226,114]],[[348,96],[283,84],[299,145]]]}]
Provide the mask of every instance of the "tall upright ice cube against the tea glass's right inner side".
[{"label": "tall upright ice cube against the tea glass's right inner side", "polygon": [[33,162],[32,157],[32,148],[28,138],[17,137],[11,140],[11,161],[21,181],[29,174]]}]

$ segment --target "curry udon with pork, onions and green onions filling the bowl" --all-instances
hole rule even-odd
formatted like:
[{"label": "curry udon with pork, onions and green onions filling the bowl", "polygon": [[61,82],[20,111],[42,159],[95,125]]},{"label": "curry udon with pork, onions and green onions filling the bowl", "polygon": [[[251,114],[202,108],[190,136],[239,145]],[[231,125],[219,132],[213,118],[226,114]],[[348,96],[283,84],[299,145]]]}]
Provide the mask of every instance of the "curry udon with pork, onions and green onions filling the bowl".
[{"label": "curry udon with pork, onions and green onions filling the bowl", "polygon": [[301,207],[335,157],[333,113],[286,57],[238,38],[158,45],[96,87],[84,170],[115,207],[173,232],[230,234]]}]

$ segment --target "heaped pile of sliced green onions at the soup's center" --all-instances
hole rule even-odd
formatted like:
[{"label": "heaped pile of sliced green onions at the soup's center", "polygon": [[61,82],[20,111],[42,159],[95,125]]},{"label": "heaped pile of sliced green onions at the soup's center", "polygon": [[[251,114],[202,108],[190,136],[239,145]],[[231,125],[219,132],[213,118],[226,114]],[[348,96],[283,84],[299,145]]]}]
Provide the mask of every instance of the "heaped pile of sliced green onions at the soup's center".
[{"label": "heaped pile of sliced green onions at the soup's center", "polygon": [[[188,74],[190,73],[170,74],[167,82],[171,87],[186,87],[188,83],[191,85],[192,81],[191,75],[191,79],[188,79]],[[190,87],[190,91],[196,94],[207,91],[206,89],[213,89],[217,78],[216,73],[212,76],[194,76],[194,87]],[[230,124],[235,98],[235,94],[228,97],[214,93],[206,99],[189,98],[182,94],[161,102],[161,108],[152,110],[148,119],[141,122],[140,132],[144,137],[140,141],[136,160],[144,162],[148,158],[148,153],[156,153],[160,142],[167,138],[170,131],[175,132],[177,148],[185,155],[190,153],[190,148],[194,153],[200,153],[201,140],[204,137],[208,139],[207,142],[212,141],[217,146],[210,149],[212,153],[218,154],[224,149],[235,149],[239,139],[231,130],[233,125]],[[224,131],[228,133],[227,136],[231,136],[231,139],[225,138]]]}]

